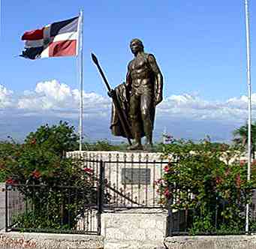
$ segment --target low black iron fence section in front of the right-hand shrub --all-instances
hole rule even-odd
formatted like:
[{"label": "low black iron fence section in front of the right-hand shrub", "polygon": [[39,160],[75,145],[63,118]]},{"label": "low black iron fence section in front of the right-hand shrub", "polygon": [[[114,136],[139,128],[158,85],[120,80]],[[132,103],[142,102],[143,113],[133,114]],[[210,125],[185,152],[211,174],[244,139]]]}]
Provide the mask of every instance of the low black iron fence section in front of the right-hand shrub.
[{"label": "low black iron fence section in front of the right-hand shrub", "polygon": [[[227,204],[227,203],[226,203]],[[236,210],[227,215],[229,205],[223,202],[212,205],[207,213],[202,214],[203,207],[172,208],[169,202],[167,207],[166,236],[185,235],[242,235],[245,232],[245,205],[237,203]],[[256,233],[256,207],[249,205],[249,231]]]}]

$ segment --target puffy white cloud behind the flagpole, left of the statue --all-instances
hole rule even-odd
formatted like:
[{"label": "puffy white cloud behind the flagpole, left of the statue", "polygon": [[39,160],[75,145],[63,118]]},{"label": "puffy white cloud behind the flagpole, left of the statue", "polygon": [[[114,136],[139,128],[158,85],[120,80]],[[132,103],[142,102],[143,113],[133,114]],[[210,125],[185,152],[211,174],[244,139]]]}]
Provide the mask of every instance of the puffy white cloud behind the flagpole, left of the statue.
[{"label": "puffy white cloud behind the flagpole, left of the statue", "polygon": [[[56,115],[77,115],[80,106],[80,91],[71,89],[57,80],[38,83],[35,91],[24,92],[17,100],[17,108],[24,111],[52,111]],[[110,107],[110,99],[94,92],[83,92],[85,114],[104,115]]]}]

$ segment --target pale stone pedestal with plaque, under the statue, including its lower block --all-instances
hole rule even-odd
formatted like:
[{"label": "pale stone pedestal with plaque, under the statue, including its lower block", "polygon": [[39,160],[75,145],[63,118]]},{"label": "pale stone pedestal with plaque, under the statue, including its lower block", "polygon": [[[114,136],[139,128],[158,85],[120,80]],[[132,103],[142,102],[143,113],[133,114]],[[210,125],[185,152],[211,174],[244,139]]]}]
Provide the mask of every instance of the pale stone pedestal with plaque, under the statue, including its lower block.
[{"label": "pale stone pedestal with plaque, under the statue, including its lower block", "polygon": [[101,214],[104,249],[163,248],[167,211],[158,203],[155,185],[167,164],[161,153],[72,151],[67,156],[82,159],[95,174],[98,161],[104,162],[110,186],[105,190],[112,196]]}]

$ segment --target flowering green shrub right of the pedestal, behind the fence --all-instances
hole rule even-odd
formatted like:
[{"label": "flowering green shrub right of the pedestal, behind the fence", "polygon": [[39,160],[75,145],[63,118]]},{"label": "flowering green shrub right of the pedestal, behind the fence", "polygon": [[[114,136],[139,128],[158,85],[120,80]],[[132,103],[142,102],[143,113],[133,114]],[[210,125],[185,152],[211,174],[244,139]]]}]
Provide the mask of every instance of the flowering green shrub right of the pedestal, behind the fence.
[{"label": "flowering green shrub right of the pedestal, behind the fence", "polygon": [[238,151],[208,140],[194,144],[173,139],[164,145],[164,155],[173,159],[156,182],[161,203],[174,210],[193,210],[191,233],[244,229],[241,214],[255,187],[255,176],[246,180],[247,166],[236,159]]}]

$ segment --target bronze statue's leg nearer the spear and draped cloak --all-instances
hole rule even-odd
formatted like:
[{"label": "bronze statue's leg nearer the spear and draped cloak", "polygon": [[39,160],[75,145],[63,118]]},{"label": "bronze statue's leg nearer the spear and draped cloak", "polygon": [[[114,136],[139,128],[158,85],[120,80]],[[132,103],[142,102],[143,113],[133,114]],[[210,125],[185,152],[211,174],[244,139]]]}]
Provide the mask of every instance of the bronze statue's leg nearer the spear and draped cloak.
[{"label": "bronze statue's leg nearer the spear and draped cloak", "polygon": [[131,118],[131,128],[134,135],[135,142],[133,145],[129,146],[128,149],[140,150],[143,149],[141,145],[141,124],[140,124],[140,97],[136,95],[131,95],[130,98],[130,118]]}]

